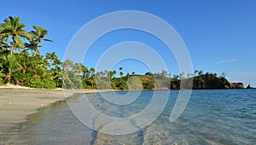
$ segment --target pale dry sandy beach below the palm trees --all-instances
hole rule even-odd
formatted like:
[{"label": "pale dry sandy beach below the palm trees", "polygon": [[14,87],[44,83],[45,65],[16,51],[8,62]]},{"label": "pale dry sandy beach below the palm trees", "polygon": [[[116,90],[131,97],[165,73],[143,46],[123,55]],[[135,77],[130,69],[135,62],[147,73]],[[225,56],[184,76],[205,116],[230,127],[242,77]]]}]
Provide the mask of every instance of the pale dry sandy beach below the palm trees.
[{"label": "pale dry sandy beach below the palm trees", "polygon": [[65,100],[73,93],[92,93],[99,90],[38,90],[22,86],[0,86],[0,136],[25,122],[38,108]]}]

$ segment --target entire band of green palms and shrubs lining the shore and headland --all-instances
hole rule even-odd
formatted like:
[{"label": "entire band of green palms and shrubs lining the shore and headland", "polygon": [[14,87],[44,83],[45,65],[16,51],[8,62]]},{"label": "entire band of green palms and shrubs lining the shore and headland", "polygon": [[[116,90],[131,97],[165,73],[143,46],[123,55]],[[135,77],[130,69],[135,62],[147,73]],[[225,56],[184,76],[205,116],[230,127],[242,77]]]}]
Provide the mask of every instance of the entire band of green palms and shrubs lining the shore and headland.
[{"label": "entire band of green palms and shrubs lining the shore and headland", "polygon": [[[116,71],[96,72],[95,68],[85,67],[82,63],[71,60],[61,62],[55,52],[41,55],[43,41],[52,42],[45,37],[48,31],[42,26],[32,26],[26,32],[26,24],[20,23],[19,17],[6,18],[0,23],[0,84],[18,84],[32,88],[67,88],[67,89],[114,89],[114,90],[179,90],[181,80],[193,80],[193,89],[232,89],[243,88],[243,84],[230,84],[216,73],[203,73],[195,70],[194,74],[174,74],[135,72],[124,75],[123,67]],[[119,78],[115,77],[119,74]]]}]

